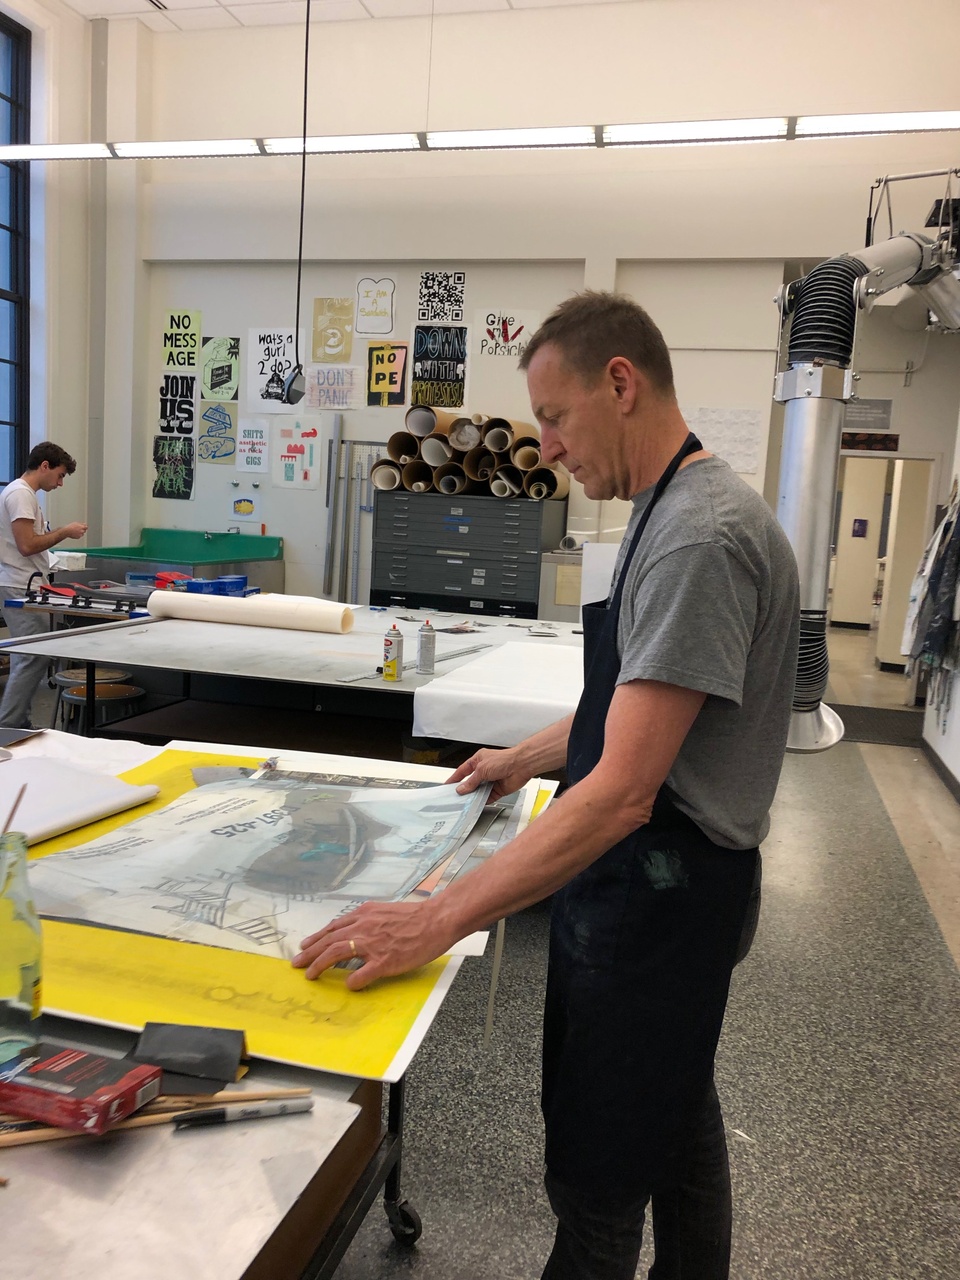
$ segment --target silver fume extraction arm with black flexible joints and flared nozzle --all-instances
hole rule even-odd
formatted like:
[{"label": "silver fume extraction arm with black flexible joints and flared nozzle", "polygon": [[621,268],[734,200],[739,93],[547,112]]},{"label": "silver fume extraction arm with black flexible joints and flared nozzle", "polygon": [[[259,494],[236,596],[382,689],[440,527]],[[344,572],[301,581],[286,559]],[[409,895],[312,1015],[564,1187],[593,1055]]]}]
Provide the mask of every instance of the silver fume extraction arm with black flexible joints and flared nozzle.
[{"label": "silver fume extraction arm with black flexible joints and flared nozzle", "polygon": [[[945,197],[927,225],[936,238],[915,232],[893,234],[890,184],[945,177]],[[960,200],[952,179],[960,169],[879,178],[870,192],[867,247],[828,259],[777,296],[781,353],[774,399],[783,403],[783,447],[777,518],[800,568],[800,659],[787,750],[822,751],[844,736],[837,713],[822,703],[827,691],[827,591],[833,515],[840,467],[844,404],[856,398],[859,375],[851,370],[856,323],[877,298],[906,284],[924,300],[929,328],[960,330]],[[886,196],[890,238],[873,243],[876,207]]]}]

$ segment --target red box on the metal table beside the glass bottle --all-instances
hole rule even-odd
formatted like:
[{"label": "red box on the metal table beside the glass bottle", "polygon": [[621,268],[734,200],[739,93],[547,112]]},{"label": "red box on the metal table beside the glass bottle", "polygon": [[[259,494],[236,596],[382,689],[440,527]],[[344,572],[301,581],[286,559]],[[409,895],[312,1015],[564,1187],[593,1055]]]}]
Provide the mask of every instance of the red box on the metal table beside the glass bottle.
[{"label": "red box on the metal table beside the glass bottle", "polygon": [[38,1041],[0,1065],[0,1111],[104,1133],[155,1098],[161,1076],[159,1066]]}]

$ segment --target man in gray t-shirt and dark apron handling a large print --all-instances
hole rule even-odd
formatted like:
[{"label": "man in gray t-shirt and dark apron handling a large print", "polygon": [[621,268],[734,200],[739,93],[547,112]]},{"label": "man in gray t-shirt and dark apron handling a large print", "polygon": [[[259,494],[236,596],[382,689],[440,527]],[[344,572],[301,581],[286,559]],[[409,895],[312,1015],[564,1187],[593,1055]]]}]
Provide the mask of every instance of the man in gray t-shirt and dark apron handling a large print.
[{"label": "man in gray t-shirt and dark apron handling a large print", "polygon": [[687,431],[669,352],[628,298],[584,293],[521,358],[545,463],[588,498],[632,498],[623,572],[584,607],[576,714],[451,778],[498,799],[566,763],[564,794],[474,874],[369,902],[311,934],[352,988],[442,955],[553,896],[543,1024],[543,1280],[726,1280],[731,1196],[713,1060],[759,905],[799,631],[796,564],[763,499]]}]

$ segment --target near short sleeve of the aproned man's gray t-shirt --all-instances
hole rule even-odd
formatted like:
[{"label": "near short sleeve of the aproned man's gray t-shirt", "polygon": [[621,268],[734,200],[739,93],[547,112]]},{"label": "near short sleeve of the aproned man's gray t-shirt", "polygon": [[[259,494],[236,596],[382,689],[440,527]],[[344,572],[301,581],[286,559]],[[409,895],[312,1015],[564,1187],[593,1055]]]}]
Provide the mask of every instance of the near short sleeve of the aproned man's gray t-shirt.
[{"label": "near short sleeve of the aproned man's gray t-shirt", "polygon": [[722,547],[681,547],[636,584],[618,685],[658,680],[737,707],[756,625],[756,586]]}]

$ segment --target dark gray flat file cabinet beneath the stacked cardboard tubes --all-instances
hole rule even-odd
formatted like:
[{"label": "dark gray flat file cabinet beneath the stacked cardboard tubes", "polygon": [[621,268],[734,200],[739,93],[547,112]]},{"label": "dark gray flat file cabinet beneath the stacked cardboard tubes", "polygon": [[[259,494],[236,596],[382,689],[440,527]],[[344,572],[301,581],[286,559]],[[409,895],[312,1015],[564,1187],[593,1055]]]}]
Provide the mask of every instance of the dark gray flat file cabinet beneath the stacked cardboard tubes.
[{"label": "dark gray flat file cabinet beneath the stacked cardboard tubes", "polygon": [[540,554],[566,527],[566,500],[379,489],[370,603],[535,618]]}]

